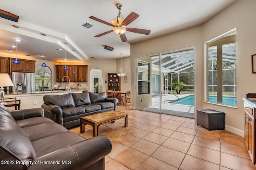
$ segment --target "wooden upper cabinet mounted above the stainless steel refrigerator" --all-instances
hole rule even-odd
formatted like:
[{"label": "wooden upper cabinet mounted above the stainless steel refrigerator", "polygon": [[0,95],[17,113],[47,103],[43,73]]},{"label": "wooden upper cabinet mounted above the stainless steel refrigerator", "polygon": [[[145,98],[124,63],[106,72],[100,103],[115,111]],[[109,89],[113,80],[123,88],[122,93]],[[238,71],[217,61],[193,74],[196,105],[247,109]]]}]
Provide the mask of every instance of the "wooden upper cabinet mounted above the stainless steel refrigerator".
[{"label": "wooden upper cabinet mounted above the stainless steel refrigerator", "polygon": [[35,73],[36,71],[36,61],[33,60],[24,60],[18,59],[20,64],[14,64],[14,58],[10,58],[10,67],[11,72],[29,72]]}]

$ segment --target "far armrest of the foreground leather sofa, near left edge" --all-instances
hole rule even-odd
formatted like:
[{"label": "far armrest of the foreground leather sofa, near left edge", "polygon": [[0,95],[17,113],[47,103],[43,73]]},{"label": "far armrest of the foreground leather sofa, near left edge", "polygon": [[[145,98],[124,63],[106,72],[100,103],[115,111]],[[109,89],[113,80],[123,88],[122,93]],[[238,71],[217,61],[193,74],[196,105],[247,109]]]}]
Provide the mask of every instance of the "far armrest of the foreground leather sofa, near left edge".
[{"label": "far armrest of the foreground leather sofa, near left edge", "polygon": [[22,120],[28,119],[32,117],[43,117],[43,110],[42,108],[34,108],[34,109],[21,109],[21,110],[14,110],[10,111],[12,117],[15,120]]}]

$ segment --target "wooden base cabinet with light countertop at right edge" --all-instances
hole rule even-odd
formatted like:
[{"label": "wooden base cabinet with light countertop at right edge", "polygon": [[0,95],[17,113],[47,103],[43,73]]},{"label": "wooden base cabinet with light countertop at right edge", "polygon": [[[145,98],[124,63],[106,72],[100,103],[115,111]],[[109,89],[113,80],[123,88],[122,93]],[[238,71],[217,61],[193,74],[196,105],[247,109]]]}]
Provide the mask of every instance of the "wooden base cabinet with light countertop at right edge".
[{"label": "wooden base cabinet with light countertop at right edge", "polygon": [[[254,102],[256,102],[256,98],[247,98],[244,100],[244,141],[246,144],[246,149],[248,150],[248,154],[252,160],[252,163],[255,165],[255,108]],[[253,102],[253,103],[252,103]]]}]

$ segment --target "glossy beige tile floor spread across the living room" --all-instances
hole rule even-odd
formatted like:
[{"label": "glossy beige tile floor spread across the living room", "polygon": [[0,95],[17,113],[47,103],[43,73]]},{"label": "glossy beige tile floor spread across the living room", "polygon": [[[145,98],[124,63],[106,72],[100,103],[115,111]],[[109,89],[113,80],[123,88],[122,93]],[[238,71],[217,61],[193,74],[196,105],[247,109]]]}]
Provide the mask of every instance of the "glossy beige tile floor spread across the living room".
[{"label": "glossy beige tile floor spread across the living room", "polygon": [[[225,130],[208,131],[196,120],[159,115],[118,106],[129,113],[124,119],[102,125],[100,135],[112,141],[112,151],[105,157],[106,170],[251,170],[244,138]],[[70,131],[89,139],[92,127]]]}]

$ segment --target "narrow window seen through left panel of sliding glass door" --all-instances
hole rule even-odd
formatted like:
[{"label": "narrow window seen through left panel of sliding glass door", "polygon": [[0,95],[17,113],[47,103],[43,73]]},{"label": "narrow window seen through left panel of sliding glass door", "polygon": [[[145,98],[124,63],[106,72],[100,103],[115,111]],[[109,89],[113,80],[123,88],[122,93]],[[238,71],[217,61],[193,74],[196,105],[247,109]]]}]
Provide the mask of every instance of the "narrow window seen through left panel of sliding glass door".
[{"label": "narrow window seen through left panel of sliding glass door", "polygon": [[138,60],[138,95],[150,93],[150,64]]}]

